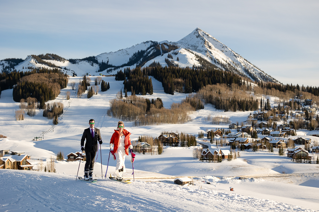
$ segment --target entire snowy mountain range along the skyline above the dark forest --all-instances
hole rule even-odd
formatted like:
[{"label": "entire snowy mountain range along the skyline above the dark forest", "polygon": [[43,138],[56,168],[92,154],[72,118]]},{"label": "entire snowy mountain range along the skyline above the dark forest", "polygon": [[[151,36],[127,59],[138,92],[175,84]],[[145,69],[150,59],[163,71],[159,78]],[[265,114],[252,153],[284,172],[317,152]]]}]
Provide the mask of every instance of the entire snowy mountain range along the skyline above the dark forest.
[{"label": "entire snowy mountain range along the skyline above the dark forest", "polygon": [[[36,58],[42,58],[41,62]],[[93,56],[94,58],[94,56]],[[235,53],[210,34],[196,28],[189,35],[177,42],[145,41],[140,44],[121,49],[116,52],[101,53],[94,58],[95,62],[70,59],[70,61],[55,55],[29,55],[25,61],[18,64],[15,69],[22,70],[26,67],[61,67],[62,71],[72,75],[82,74],[115,74],[118,70],[136,66],[146,67],[151,63],[159,62],[165,66],[205,66],[211,64],[222,70],[231,71],[241,76],[246,76],[253,81],[276,82],[270,75],[251,64],[248,60]],[[99,64],[97,64],[97,61]],[[1,70],[8,66],[8,62],[1,61]],[[49,64],[48,64],[49,63]],[[12,66],[12,65],[11,65]],[[11,70],[13,70],[11,68]],[[97,74],[96,74],[97,75]]]}]

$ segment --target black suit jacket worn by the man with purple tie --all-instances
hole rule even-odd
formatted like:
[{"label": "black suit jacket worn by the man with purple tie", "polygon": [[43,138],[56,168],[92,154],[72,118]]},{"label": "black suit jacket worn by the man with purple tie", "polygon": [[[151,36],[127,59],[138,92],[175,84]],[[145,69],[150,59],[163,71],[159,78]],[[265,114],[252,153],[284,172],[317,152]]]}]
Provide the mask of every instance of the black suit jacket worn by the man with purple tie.
[{"label": "black suit jacket worn by the man with purple tie", "polygon": [[[86,139],[85,146],[84,140]],[[81,146],[84,146],[85,152],[97,152],[98,140],[102,140],[100,130],[94,127],[94,138],[92,138],[90,128],[84,130],[81,138]]]}]

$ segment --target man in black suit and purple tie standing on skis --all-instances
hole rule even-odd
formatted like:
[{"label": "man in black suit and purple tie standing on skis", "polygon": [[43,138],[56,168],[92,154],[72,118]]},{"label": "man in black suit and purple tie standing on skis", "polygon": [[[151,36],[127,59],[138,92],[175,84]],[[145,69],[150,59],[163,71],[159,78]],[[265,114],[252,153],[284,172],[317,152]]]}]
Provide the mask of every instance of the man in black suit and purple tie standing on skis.
[{"label": "man in black suit and purple tie standing on skis", "polygon": [[[102,138],[100,130],[94,127],[94,119],[90,119],[90,127],[85,129],[81,138],[81,150],[85,151],[86,163],[84,166],[84,179],[93,179],[93,167],[95,154],[98,151],[98,141],[100,145],[102,144]],[[85,146],[84,140],[86,139]]]}]

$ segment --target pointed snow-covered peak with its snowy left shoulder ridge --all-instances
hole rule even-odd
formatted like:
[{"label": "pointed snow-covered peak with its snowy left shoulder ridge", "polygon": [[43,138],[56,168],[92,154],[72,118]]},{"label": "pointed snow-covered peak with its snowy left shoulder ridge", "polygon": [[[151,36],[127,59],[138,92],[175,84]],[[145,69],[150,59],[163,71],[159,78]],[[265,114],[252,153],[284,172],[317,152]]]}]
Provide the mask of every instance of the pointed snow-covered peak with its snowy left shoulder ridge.
[{"label": "pointed snow-covered peak with its snowy left shoulder ridge", "polygon": [[[168,53],[162,51],[163,46],[165,48],[166,44],[179,47],[178,49],[168,52],[171,54],[170,59],[168,59]],[[102,60],[108,61],[109,64],[118,66],[114,69],[116,72],[121,68],[134,68],[135,66],[140,65],[141,61],[145,60],[145,57],[149,56],[151,53],[154,53],[157,48],[160,48],[160,54],[157,52],[157,54],[155,54],[157,56],[148,60],[143,67],[150,65],[154,61],[159,62],[163,67],[168,66],[165,59],[168,59],[179,67],[190,67],[193,65],[201,66],[199,62],[199,57],[201,57],[223,70],[232,71],[254,81],[270,81],[278,83],[276,79],[264,73],[248,60],[241,57],[238,53],[235,53],[219,40],[199,28],[196,28],[189,35],[177,42],[162,41],[157,43],[147,41],[117,52],[102,53],[96,57],[99,62]],[[145,51],[145,53],[143,52],[143,54],[141,54],[141,51]],[[131,57],[134,54],[137,55],[135,58],[136,62],[127,64],[131,61]]]}]

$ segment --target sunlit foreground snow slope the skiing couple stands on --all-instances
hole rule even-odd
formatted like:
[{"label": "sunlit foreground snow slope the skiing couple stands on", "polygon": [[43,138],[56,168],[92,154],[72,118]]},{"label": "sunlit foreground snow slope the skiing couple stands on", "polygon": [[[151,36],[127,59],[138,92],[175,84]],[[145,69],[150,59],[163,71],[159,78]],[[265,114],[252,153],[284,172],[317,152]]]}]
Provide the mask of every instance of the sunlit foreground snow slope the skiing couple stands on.
[{"label": "sunlit foreground snow slope the skiing couple stands on", "polygon": [[[10,179],[10,180],[9,180]],[[75,176],[1,170],[0,211],[309,211],[289,204],[228,192],[135,181],[75,181]]]}]

